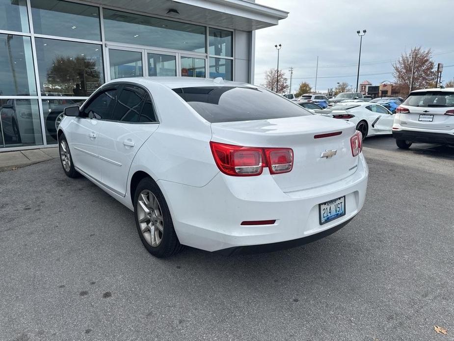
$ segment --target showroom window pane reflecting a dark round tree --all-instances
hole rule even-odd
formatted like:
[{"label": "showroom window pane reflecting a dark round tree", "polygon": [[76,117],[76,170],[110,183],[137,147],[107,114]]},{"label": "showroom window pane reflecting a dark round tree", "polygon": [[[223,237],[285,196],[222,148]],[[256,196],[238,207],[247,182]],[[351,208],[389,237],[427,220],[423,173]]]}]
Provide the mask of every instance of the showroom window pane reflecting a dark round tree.
[{"label": "showroom window pane reflecting a dark round tree", "polygon": [[89,96],[104,83],[101,45],[35,38],[41,93]]}]

